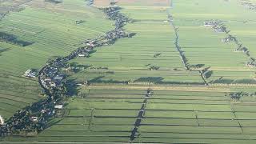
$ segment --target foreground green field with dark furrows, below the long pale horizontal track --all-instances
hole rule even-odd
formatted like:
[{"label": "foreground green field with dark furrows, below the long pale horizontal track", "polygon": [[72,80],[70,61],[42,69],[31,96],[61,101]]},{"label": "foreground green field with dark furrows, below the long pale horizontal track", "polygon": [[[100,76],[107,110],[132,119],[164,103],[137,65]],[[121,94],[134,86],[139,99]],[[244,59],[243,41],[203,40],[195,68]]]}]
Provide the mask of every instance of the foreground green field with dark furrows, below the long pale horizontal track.
[{"label": "foreground green field with dark furrows, below the long pale horizontal track", "polygon": [[[255,98],[233,102],[218,88],[194,90],[153,90],[133,142],[255,142]],[[71,98],[63,118],[29,140],[129,142],[146,90],[81,92],[84,98]]]}]

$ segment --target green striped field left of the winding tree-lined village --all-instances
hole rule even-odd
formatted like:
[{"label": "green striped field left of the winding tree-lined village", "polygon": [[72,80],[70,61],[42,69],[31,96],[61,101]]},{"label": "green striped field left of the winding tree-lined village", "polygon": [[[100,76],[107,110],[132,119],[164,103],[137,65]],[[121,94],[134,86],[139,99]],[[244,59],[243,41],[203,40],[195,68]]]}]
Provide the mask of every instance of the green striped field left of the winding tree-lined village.
[{"label": "green striped field left of the winding tree-lined village", "polygon": [[[77,20],[85,22],[76,25]],[[37,79],[22,78],[26,70],[41,68],[51,56],[69,54],[86,38],[109,30],[112,23],[104,20],[99,10],[85,8],[83,1],[65,1],[55,6],[37,0],[22,11],[7,14],[0,27],[21,40],[34,42],[25,47],[0,42],[0,114],[9,118],[41,98]]]}]

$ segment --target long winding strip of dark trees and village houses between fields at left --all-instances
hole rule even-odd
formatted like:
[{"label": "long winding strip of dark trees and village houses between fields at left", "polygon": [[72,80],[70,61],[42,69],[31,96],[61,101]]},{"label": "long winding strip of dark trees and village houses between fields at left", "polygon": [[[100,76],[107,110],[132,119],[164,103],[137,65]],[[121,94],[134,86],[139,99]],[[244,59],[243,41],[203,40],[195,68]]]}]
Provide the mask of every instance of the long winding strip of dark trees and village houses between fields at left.
[{"label": "long winding strip of dark trees and village houses between fields at left", "polygon": [[56,114],[62,114],[62,110],[59,110],[62,108],[58,107],[64,106],[69,97],[67,93],[68,83],[65,81],[65,76],[60,74],[60,70],[66,66],[67,62],[81,54],[88,57],[95,52],[94,49],[97,47],[113,45],[119,38],[131,38],[134,35],[123,29],[126,23],[134,21],[121,14],[119,6],[109,6],[99,8],[99,10],[102,10],[108,19],[115,22],[114,30],[110,30],[98,38],[87,39],[84,42],[86,46],[79,47],[66,57],[56,57],[49,60],[38,74],[38,82],[45,90],[47,97],[18,110],[6,121],[6,125],[0,127],[1,137],[8,135],[33,136],[45,130],[49,118],[53,118]]}]

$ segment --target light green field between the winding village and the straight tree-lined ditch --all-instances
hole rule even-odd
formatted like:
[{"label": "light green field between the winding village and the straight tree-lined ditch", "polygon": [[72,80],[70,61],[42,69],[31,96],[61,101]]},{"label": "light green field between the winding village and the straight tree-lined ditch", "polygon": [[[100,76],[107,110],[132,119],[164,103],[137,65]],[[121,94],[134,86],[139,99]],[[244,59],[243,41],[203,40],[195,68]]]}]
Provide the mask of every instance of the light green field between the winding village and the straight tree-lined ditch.
[{"label": "light green field between the winding village and the straight tree-lined ditch", "polygon": [[71,62],[89,67],[71,74],[71,78],[91,83],[203,84],[198,71],[186,71],[183,67],[174,48],[174,30],[167,22],[165,8],[124,6],[122,12],[135,20],[125,26],[135,33],[134,37],[103,46],[90,58],[74,59]]}]

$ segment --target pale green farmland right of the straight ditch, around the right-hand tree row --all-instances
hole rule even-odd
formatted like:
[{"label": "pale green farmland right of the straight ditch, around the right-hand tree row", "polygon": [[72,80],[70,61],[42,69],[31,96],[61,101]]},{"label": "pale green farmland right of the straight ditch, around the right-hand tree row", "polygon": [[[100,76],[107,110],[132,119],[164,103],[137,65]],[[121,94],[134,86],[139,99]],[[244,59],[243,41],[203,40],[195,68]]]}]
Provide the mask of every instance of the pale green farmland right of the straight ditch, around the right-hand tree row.
[{"label": "pale green farmland right of the straight ditch, around the right-hand tree row", "polygon": [[[230,30],[229,34],[234,35],[242,46],[250,50],[250,57],[254,57],[255,43],[250,40],[254,38],[252,27],[255,23],[251,21],[254,13],[243,10],[234,1],[174,3],[170,13],[173,14],[174,23],[178,27],[182,50],[186,52],[190,64],[202,64],[209,68],[211,74],[207,82],[254,84],[254,68],[246,66],[246,54],[234,52],[237,47],[234,42],[222,42],[222,38],[227,36],[226,33],[217,33],[210,26],[203,26],[208,20],[222,21],[227,30]],[[186,6],[191,7],[190,13],[185,10]]]}]

